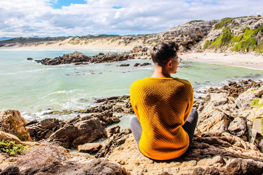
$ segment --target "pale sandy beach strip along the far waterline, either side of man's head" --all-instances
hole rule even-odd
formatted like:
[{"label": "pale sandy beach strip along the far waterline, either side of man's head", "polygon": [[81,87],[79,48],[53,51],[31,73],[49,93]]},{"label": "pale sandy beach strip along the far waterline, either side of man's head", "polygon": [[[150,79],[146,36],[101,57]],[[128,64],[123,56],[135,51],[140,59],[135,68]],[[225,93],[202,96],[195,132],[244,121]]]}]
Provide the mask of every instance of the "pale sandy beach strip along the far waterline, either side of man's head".
[{"label": "pale sandy beach strip along the far waterline, either side of man's head", "polygon": [[[108,51],[129,51],[134,46],[114,45],[106,43],[89,43],[89,44],[76,44],[72,45],[65,43],[58,46],[57,44],[27,46],[27,47],[0,47],[0,50],[108,50]],[[252,54],[233,54],[233,53],[179,53],[179,57],[183,60],[213,63],[220,65],[241,66],[253,69],[263,70],[263,57],[262,55],[256,56]]]}]

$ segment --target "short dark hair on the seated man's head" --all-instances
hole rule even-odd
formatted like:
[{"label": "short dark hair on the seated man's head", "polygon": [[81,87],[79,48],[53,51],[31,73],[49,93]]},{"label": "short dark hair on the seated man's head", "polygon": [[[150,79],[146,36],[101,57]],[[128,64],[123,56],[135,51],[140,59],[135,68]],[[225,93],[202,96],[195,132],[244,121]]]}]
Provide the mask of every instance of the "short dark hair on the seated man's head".
[{"label": "short dark hair on the seated man's head", "polygon": [[178,51],[178,44],[172,41],[163,41],[156,44],[151,50],[151,59],[154,64],[163,66],[169,59],[173,59]]}]

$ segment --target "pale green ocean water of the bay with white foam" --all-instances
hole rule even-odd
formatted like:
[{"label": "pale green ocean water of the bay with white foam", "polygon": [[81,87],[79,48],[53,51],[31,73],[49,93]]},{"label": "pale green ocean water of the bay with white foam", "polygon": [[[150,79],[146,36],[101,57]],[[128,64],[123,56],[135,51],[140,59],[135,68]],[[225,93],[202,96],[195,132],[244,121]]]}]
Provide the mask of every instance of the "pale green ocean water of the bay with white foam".
[{"label": "pale green ocean water of the bay with white foam", "polygon": [[[76,114],[45,115],[49,110],[77,110],[96,106],[95,99],[129,94],[130,85],[137,79],[151,76],[154,65],[134,67],[135,63],[152,63],[150,59],[127,60],[89,65],[46,66],[33,58],[54,58],[74,50],[0,50],[0,110],[17,109],[27,120],[59,118],[67,120]],[[98,50],[79,50],[93,56]],[[122,52],[122,51],[118,51]],[[143,58],[144,56],[142,56]],[[130,64],[120,67],[120,64]],[[189,80],[194,96],[209,87],[221,87],[228,81],[263,80],[263,70],[244,67],[188,62],[182,60],[173,77]],[[121,125],[128,126],[134,115],[123,117]],[[122,124],[123,123],[123,124]]]}]

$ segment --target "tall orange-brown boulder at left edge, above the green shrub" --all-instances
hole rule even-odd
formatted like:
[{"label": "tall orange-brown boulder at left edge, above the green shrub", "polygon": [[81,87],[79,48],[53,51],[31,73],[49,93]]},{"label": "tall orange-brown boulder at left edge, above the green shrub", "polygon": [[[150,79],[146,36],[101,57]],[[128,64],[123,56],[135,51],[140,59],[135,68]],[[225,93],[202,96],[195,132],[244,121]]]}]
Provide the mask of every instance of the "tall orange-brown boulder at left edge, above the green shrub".
[{"label": "tall orange-brown boulder at left edge, above the green shrub", "polygon": [[15,109],[3,109],[0,110],[0,123],[6,123],[7,131],[11,134],[16,135],[23,139],[22,141],[31,141],[31,137],[27,133],[27,128],[25,127],[27,122],[21,116],[21,113]]}]

